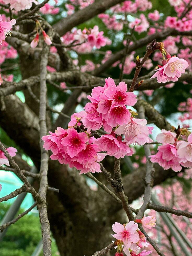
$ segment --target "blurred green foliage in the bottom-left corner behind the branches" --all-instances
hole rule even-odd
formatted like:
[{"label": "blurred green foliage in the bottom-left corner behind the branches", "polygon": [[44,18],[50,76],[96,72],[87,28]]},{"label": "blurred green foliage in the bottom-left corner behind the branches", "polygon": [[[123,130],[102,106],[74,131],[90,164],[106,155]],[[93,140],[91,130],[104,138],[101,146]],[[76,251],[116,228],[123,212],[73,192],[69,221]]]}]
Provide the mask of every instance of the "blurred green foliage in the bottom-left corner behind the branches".
[{"label": "blurred green foliage in the bottom-left corner behind the branches", "polygon": [[[9,207],[10,205],[7,203],[1,203],[0,222]],[[20,209],[19,213],[23,211],[24,209]],[[1,241],[1,256],[31,256],[40,240],[39,216],[38,214],[29,213],[8,228],[3,241]],[[40,256],[42,255],[43,253],[40,254]],[[52,240],[52,255],[59,255],[54,239]]]}]

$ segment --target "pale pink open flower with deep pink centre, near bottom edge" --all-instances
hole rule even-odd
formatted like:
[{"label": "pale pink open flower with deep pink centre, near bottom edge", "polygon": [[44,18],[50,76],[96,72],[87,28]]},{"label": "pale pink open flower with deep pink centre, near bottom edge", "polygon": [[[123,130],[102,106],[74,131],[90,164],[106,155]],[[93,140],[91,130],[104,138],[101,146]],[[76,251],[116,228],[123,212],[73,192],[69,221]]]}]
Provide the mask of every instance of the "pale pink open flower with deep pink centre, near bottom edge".
[{"label": "pale pink open flower with deep pink centre, near bottom edge", "polygon": [[123,241],[124,246],[129,249],[131,243],[136,243],[139,241],[138,234],[135,234],[138,225],[134,221],[130,221],[125,226],[115,222],[112,226],[113,231],[117,234],[112,235],[118,240]]}]

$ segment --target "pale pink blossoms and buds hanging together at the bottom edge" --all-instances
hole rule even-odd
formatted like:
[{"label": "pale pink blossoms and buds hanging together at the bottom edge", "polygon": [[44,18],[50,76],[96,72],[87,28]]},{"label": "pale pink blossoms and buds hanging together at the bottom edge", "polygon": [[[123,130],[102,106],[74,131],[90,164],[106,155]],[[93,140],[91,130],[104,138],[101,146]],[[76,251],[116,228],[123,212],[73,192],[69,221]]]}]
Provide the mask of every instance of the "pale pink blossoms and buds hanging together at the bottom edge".
[{"label": "pale pink blossoms and buds hanging together at the bottom edge", "polygon": [[156,218],[153,216],[132,220],[123,225],[115,222],[112,226],[113,231],[116,233],[112,236],[117,239],[115,241],[115,245],[117,245],[115,256],[123,256],[123,252],[127,256],[144,256],[152,253],[152,251],[146,250],[140,252],[141,248],[148,247],[149,243],[145,235],[139,230],[137,223],[141,223],[144,227],[151,229],[155,226],[155,222]]}]

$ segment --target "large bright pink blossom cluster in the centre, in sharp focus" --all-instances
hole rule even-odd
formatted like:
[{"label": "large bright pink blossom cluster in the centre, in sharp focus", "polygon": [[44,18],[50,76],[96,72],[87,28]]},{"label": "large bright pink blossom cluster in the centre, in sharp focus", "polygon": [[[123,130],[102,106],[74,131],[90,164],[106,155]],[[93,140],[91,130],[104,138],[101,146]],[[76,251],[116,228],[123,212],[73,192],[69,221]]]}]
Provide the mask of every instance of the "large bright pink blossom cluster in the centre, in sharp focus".
[{"label": "large bright pink blossom cluster in the centre, in sharp focus", "polygon": [[[153,127],[146,126],[145,119],[136,119],[137,113],[127,108],[137,99],[133,92],[127,92],[125,82],[116,86],[108,78],[104,87],[93,88],[87,98],[91,102],[85,105],[85,110],[71,116],[68,129],[57,127],[54,133],[42,137],[45,150],[53,153],[52,160],[69,164],[80,170],[80,174],[95,173],[101,171],[99,162],[106,155],[124,158],[133,154],[130,144],[153,142],[149,138]],[[102,127],[108,134],[94,132]]]}]

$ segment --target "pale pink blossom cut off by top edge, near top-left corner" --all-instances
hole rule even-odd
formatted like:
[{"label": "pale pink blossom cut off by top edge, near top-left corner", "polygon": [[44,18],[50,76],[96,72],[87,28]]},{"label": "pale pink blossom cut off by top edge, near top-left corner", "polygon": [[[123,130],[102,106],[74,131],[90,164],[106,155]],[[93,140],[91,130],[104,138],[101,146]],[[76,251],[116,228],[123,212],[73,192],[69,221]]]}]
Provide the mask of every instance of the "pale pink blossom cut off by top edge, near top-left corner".
[{"label": "pale pink blossom cut off by top edge, near top-left corner", "polygon": [[10,4],[11,10],[24,11],[30,9],[32,4],[38,4],[36,0],[3,0],[4,4]]}]

